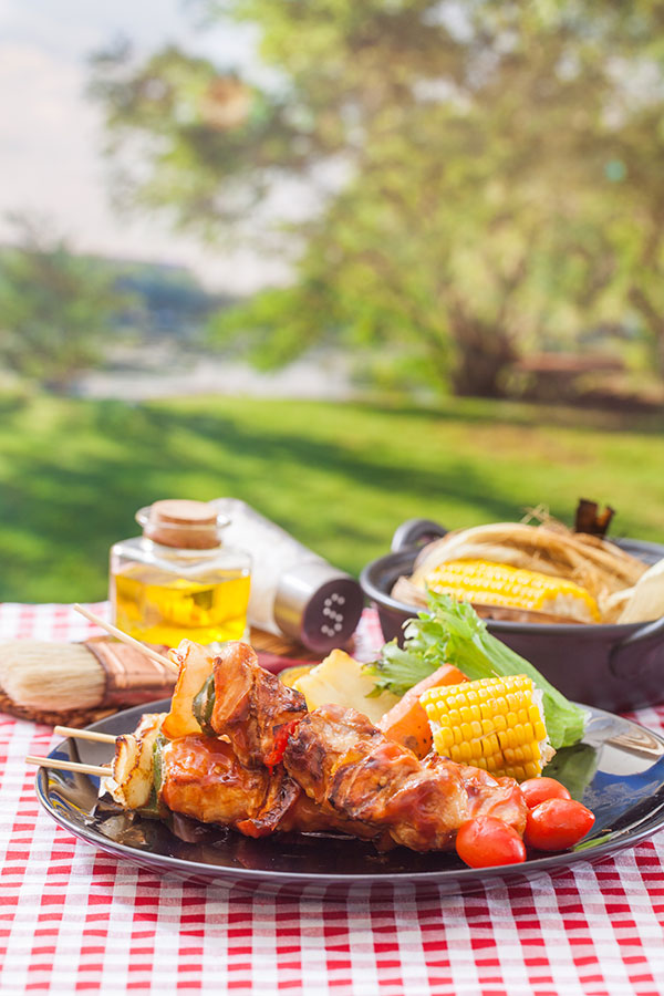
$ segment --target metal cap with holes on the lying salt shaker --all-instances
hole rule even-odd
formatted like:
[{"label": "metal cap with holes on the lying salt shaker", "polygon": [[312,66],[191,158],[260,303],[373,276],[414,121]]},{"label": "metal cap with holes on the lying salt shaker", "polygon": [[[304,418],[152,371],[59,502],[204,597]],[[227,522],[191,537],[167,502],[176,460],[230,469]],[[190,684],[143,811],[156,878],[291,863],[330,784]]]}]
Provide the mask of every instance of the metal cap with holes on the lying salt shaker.
[{"label": "metal cap with holes on the lying salt shaker", "polygon": [[354,578],[323,560],[298,563],[279,579],[274,622],[284,635],[326,653],[355,632],[364,595]]}]

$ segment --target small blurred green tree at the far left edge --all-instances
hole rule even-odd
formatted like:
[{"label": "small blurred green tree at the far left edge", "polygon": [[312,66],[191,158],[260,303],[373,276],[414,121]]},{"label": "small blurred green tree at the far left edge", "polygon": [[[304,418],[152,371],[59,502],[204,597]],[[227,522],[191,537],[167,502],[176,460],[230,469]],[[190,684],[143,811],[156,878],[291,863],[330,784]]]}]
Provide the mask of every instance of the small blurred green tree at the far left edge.
[{"label": "small blurred green tree at the far left edge", "polygon": [[12,220],[17,243],[0,255],[0,365],[63,392],[98,362],[126,299],[105,269],[73,255],[43,220]]}]

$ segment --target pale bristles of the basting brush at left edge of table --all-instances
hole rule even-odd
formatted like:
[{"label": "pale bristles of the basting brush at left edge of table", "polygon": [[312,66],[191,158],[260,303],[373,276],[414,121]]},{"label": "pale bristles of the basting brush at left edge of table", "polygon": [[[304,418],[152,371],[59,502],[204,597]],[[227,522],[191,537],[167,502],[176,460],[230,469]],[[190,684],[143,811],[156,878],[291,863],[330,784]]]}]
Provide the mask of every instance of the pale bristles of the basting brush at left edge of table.
[{"label": "pale bristles of the basting brush at left edge of table", "polygon": [[42,712],[90,709],[104,696],[104,670],[80,643],[0,643],[0,686],[18,704]]}]

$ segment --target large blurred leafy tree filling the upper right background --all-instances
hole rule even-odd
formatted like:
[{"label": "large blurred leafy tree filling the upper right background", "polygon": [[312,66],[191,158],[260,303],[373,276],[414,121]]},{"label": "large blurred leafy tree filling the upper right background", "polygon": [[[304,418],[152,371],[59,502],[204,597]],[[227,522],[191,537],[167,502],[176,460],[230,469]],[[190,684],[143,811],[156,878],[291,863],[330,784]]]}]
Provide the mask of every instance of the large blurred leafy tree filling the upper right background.
[{"label": "large blurred leafy tree filling the upper right background", "polygon": [[258,25],[267,83],[123,43],[91,92],[125,205],[214,241],[293,177],[313,194],[272,228],[292,287],[219,336],[262,365],[378,343],[494,395],[520,350],[631,311],[664,374],[661,0],[198,6]]}]

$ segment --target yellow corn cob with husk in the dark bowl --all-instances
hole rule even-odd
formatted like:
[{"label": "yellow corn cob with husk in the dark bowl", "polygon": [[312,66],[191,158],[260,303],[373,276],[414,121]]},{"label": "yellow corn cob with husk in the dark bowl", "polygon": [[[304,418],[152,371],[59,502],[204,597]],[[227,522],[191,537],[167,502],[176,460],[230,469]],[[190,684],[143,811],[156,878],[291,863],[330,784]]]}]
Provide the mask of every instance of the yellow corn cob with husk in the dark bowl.
[{"label": "yellow corn cob with husk in the dark bowl", "polygon": [[433,591],[478,605],[502,605],[567,615],[581,622],[600,622],[598,603],[573,581],[492,563],[488,560],[450,560],[425,578]]}]

